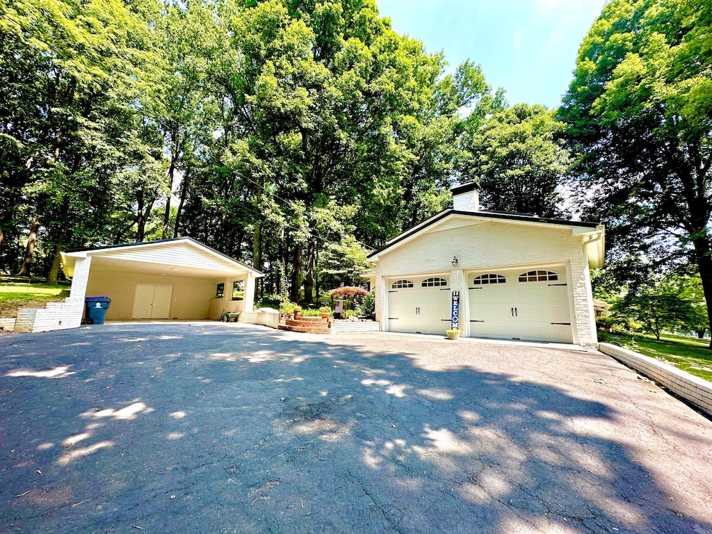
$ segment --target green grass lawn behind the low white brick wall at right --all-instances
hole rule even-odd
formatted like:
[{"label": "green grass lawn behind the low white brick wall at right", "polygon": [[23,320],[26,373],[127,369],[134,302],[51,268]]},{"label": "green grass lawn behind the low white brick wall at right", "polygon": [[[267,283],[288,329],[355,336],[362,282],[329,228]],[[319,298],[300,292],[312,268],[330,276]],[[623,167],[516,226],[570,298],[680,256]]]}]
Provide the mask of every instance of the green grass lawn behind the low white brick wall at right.
[{"label": "green grass lawn behind the low white brick wall at right", "polygon": [[674,365],[679,370],[712,382],[712,350],[709,340],[697,340],[683,335],[660,336],[660,341],[654,335],[611,335],[599,333],[599,340],[620,345],[634,352],[656,358],[661,362]]}]

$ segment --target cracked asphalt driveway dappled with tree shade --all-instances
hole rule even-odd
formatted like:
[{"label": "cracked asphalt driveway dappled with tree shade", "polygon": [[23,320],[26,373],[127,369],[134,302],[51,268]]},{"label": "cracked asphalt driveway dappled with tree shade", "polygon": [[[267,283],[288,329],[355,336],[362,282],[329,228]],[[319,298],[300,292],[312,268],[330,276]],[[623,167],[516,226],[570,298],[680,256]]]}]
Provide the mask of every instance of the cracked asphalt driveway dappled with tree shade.
[{"label": "cracked asphalt driveway dappled with tree shade", "polygon": [[712,422],[596,352],[0,337],[0,533],[712,533]]}]

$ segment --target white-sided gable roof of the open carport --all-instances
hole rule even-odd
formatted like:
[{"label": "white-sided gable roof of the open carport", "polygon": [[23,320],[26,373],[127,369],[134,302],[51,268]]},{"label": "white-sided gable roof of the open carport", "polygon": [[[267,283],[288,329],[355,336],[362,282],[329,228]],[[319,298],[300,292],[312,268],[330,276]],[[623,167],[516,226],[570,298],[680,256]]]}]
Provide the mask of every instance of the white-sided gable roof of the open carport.
[{"label": "white-sided gable roof of the open carport", "polygon": [[240,261],[216,251],[191,237],[140,241],[108,246],[72,248],[62,253],[62,263],[67,276],[73,276],[76,258],[94,256],[105,260],[145,263],[154,266],[182,266],[194,271],[214,273],[243,273],[254,277],[264,276]]}]

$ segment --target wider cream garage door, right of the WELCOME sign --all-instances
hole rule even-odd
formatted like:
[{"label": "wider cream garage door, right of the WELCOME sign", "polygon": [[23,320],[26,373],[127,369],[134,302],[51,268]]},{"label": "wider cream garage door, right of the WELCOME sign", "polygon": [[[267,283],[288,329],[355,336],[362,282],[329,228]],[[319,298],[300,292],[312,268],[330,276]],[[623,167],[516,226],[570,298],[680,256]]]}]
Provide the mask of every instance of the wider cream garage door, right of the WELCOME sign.
[{"label": "wider cream garage door, right of the WELCOME sign", "polygon": [[572,342],[562,271],[533,269],[468,277],[470,335]]}]

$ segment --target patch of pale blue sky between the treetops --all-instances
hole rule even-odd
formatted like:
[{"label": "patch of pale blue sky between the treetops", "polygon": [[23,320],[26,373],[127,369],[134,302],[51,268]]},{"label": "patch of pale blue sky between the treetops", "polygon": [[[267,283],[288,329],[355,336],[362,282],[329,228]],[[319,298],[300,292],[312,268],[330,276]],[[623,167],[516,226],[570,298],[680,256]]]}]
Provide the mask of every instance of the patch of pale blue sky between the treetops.
[{"label": "patch of pale blue sky between the treetops", "polygon": [[605,0],[376,0],[398,33],[443,51],[454,70],[471,59],[510,104],[555,108]]}]

